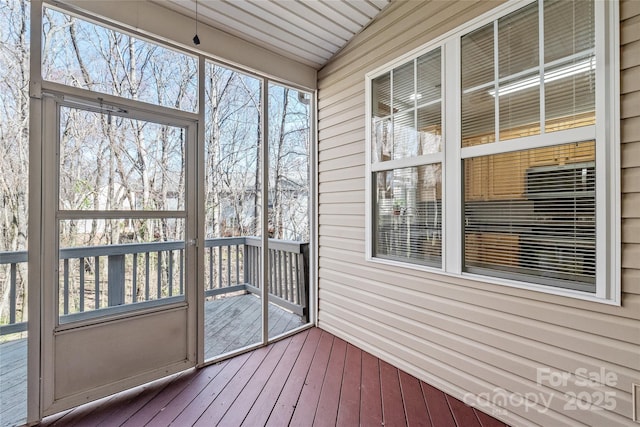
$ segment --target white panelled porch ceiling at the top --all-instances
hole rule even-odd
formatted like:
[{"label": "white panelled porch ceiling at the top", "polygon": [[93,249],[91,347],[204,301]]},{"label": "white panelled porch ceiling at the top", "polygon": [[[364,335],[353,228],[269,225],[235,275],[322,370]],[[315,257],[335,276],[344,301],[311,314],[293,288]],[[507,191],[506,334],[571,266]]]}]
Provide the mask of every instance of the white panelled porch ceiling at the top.
[{"label": "white panelled porch ceiling at the top", "polygon": [[[195,18],[196,0],[151,0]],[[198,22],[316,69],[391,0],[197,0]]]}]

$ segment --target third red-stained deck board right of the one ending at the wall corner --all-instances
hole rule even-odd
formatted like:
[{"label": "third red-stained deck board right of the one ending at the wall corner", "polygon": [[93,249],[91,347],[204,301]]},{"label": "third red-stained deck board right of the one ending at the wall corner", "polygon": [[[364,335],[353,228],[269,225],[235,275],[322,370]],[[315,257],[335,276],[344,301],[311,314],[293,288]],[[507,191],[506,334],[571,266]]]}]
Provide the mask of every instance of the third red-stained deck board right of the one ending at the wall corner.
[{"label": "third red-stained deck board right of the one ending at the wall corner", "polygon": [[360,424],[361,378],[362,350],[351,344],[347,344],[336,426],[348,427]]}]

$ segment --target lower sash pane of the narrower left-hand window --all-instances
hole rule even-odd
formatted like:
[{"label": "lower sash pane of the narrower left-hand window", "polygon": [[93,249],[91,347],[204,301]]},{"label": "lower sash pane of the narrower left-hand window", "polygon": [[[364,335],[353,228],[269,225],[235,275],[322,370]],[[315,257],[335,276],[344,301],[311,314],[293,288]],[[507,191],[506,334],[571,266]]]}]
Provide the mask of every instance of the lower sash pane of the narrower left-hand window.
[{"label": "lower sash pane of the narrower left-hand window", "polygon": [[442,165],[377,172],[374,256],[441,266]]}]

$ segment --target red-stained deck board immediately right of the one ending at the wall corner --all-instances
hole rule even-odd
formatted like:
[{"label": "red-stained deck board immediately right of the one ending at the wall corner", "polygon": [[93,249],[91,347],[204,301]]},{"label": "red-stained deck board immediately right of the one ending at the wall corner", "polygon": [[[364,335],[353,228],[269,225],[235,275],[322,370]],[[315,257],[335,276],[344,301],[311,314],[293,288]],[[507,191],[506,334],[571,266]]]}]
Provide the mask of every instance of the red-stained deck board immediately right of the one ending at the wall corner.
[{"label": "red-stained deck board immediately right of the one ending at the wall corner", "polygon": [[333,335],[327,332],[322,333],[316,353],[313,355],[309,373],[304,381],[302,392],[300,392],[300,399],[298,399],[296,409],[293,411],[293,417],[291,417],[290,425],[292,426],[304,427],[313,425],[333,340]]}]

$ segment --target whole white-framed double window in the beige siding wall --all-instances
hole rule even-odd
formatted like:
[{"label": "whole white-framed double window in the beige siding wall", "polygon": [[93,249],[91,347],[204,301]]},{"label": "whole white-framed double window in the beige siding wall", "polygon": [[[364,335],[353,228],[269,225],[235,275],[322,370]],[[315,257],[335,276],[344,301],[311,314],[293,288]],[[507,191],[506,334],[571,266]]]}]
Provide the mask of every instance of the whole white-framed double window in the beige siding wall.
[{"label": "whole white-framed double window in the beige siding wall", "polygon": [[372,259],[616,302],[616,7],[510,2],[368,75]]}]

